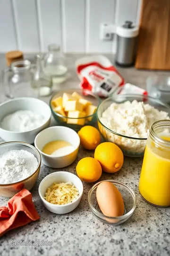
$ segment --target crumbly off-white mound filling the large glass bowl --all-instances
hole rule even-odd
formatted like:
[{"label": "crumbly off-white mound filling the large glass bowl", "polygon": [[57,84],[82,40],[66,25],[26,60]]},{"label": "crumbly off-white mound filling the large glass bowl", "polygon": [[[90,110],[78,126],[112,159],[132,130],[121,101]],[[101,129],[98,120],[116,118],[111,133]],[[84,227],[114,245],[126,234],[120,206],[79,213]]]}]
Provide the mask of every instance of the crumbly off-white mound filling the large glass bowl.
[{"label": "crumbly off-white mound filling the large glass bowl", "polygon": [[[167,112],[159,111],[149,104],[136,100],[117,104],[112,103],[103,113],[100,121],[110,130],[121,135],[135,138],[147,138],[152,124],[161,119],[170,119]],[[108,140],[124,150],[137,153],[144,151],[145,140],[124,138],[104,131]]]}]

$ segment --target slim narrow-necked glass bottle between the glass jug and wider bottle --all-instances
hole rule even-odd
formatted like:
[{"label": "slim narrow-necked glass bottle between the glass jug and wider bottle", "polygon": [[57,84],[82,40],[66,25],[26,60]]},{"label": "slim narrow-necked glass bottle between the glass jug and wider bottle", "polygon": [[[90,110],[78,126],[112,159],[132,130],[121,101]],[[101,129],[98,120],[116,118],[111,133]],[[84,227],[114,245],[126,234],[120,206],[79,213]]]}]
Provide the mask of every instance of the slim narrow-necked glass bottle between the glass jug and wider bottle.
[{"label": "slim narrow-necked glass bottle between the glass jug and wider bottle", "polygon": [[52,92],[51,77],[47,76],[42,69],[43,55],[36,55],[36,68],[32,75],[32,87],[38,90],[39,96],[49,96]]}]

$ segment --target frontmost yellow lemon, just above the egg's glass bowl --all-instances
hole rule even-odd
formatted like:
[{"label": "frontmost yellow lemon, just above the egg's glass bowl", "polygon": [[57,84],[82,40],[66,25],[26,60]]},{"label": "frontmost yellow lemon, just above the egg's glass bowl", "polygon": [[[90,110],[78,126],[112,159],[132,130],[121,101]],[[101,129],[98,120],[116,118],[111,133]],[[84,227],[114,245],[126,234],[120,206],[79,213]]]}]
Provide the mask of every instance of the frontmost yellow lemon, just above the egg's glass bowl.
[{"label": "frontmost yellow lemon, just above the egg's glass bowl", "polygon": [[93,157],[85,157],[78,162],[76,173],[84,182],[95,182],[102,175],[102,167]]}]

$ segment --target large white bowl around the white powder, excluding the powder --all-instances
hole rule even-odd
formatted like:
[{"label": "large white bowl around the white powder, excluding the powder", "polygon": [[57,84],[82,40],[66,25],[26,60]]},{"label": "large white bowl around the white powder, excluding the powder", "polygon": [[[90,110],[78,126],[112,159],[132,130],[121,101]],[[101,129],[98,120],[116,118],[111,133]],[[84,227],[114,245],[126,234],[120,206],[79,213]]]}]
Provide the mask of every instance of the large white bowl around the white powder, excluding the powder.
[{"label": "large white bowl around the white powder, excluding the powder", "polygon": [[36,98],[16,98],[0,104],[0,122],[2,119],[18,110],[31,110],[45,117],[44,123],[33,130],[26,132],[13,132],[0,128],[0,137],[5,141],[23,141],[29,144],[34,143],[36,135],[44,128],[50,126],[51,110],[48,104]]}]

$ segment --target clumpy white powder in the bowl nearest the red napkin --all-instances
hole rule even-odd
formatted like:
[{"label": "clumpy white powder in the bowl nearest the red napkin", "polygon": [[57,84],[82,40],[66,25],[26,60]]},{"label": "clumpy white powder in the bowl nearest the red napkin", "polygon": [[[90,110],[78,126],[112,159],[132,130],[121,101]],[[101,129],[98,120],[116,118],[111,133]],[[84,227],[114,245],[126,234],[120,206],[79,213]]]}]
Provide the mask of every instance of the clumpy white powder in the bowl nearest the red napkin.
[{"label": "clumpy white powder in the bowl nearest the red napkin", "polygon": [[33,174],[36,157],[26,150],[10,150],[0,155],[0,184],[16,183]]}]

